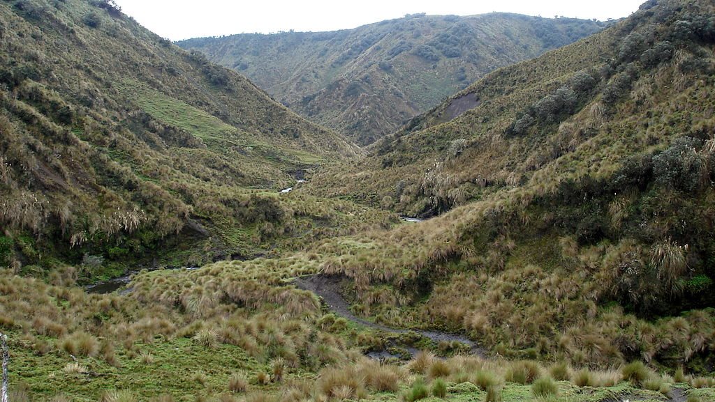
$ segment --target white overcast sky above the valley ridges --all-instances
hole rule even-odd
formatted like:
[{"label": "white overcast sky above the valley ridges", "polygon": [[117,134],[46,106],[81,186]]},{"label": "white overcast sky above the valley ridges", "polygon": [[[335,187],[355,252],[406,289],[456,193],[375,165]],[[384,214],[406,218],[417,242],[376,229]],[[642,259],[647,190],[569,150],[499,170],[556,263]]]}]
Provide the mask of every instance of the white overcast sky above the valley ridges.
[{"label": "white overcast sky above the valley ridges", "polygon": [[583,19],[621,18],[645,0],[115,0],[139,24],[172,40],[277,31],[334,31],[405,14],[474,15],[491,11]]}]

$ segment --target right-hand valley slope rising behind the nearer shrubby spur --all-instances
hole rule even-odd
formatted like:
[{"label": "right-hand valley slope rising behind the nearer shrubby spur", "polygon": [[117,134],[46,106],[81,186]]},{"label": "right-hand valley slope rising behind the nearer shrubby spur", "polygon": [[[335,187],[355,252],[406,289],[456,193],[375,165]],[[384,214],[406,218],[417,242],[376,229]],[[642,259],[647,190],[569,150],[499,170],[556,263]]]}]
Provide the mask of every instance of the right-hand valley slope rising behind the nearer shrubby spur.
[{"label": "right-hand valley slope rising behind the nearer shrubby spur", "polygon": [[313,185],[430,215],[526,184],[607,176],[677,136],[706,139],[711,21],[676,20],[676,6],[662,3],[656,15],[646,3],[606,31],[488,74]]}]

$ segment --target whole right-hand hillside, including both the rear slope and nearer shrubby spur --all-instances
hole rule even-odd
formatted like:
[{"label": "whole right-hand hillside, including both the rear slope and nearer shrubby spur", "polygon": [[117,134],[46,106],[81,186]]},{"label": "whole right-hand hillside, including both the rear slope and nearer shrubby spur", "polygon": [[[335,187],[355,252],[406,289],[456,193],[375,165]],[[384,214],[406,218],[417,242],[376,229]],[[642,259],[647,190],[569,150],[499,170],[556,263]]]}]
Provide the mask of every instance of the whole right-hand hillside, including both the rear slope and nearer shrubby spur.
[{"label": "whole right-hand hillside, including both the rear slope and nearer shrubby spur", "polygon": [[351,279],[356,311],[502,356],[709,370],[714,11],[646,2],[320,171],[314,194],[438,215],[327,241],[322,272]]}]

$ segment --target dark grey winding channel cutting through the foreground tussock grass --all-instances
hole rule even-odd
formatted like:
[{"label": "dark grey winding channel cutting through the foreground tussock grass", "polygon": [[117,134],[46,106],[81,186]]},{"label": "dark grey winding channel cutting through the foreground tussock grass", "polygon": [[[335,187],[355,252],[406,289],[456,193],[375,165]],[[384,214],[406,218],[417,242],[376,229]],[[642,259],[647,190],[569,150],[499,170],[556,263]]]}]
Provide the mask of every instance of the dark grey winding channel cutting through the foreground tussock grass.
[{"label": "dark grey winding channel cutting through the foreground tussock grass", "polygon": [[370,328],[375,328],[380,331],[393,332],[393,333],[407,333],[415,332],[419,333],[425,338],[429,338],[432,341],[440,342],[460,342],[469,346],[472,352],[480,356],[485,356],[485,351],[479,348],[476,343],[471,341],[469,338],[461,335],[456,335],[454,333],[445,333],[440,331],[423,331],[419,329],[408,330],[405,328],[392,328],[389,326],[383,326],[378,323],[373,323],[371,321],[365,320],[365,318],[360,318],[355,316],[355,314],[350,311],[350,305],[345,301],[345,298],[340,294],[340,278],[335,276],[307,276],[295,279],[295,286],[304,289],[306,291],[312,291],[313,293],[320,296],[325,304],[327,304],[330,311],[336,313],[339,316],[347,318],[350,321],[355,321],[356,323],[363,324]]}]

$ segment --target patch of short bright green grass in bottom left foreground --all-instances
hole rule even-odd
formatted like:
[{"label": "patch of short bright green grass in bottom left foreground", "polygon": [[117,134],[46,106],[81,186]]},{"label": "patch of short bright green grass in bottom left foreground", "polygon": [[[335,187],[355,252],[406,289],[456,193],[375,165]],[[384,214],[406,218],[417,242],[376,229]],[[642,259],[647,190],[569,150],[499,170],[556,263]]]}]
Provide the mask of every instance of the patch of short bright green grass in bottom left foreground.
[{"label": "patch of short bright green grass in bottom left foreground", "polygon": [[[34,356],[25,349],[13,349],[10,366],[11,386],[26,383],[34,396],[51,398],[61,392],[65,396],[82,400],[98,400],[106,389],[141,390],[142,398],[151,398],[172,393],[184,398],[207,393],[207,388],[222,390],[227,387],[232,373],[241,371],[255,376],[267,371],[267,366],[247,356],[237,346],[220,345],[207,349],[191,339],[176,338],[171,341],[137,347],[154,356],[153,363],[142,363],[139,355],[129,358],[118,354],[121,368],[114,368],[93,358],[80,358],[90,371],[98,376],[68,375],[62,368],[71,361],[69,356]],[[202,372],[207,383],[190,381],[194,374]]]}]

